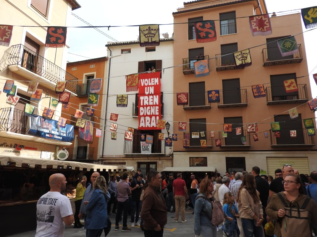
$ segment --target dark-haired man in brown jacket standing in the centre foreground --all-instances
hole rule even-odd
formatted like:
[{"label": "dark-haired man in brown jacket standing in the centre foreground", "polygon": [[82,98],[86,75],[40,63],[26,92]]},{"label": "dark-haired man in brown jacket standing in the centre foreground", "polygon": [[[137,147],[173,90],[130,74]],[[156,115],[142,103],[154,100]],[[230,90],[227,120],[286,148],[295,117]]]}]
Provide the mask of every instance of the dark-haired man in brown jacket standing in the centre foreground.
[{"label": "dark-haired man in brown jacket standing in the centre foreground", "polygon": [[162,237],[167,223],[167,210],[163,194],[159,190],[161,175],[158,171],[150,171],[147,180],[149,186],[144,191],[141,209],[144,237]]}]

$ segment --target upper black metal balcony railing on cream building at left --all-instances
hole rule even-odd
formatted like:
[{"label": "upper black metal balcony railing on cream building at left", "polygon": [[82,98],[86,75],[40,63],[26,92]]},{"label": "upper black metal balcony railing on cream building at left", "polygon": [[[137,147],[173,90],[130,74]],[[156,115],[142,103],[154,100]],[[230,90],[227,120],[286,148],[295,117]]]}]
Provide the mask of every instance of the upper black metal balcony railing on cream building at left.
[{"label": "upper black metal balcony railing on cream building at left", "polygon": [[67,81],[66,89],[76,93],[78,78],[61,69],[56,64],[43,58],[22,44],[13,45],[6,51],[8,65],[18,65],[57,83]]}]

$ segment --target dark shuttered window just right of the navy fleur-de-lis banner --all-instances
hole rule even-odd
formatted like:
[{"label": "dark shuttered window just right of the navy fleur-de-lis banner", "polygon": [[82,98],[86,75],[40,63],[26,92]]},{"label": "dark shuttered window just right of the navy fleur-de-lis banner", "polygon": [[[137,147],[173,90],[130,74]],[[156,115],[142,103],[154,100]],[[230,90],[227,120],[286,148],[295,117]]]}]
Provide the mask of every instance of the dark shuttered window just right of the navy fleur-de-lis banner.
[{"label": "dark shuttered window just right of the navy fleur-de-lis banner", "polygon": [[240,79],[229,79],[222,81],[223,104],[241,103]]}]

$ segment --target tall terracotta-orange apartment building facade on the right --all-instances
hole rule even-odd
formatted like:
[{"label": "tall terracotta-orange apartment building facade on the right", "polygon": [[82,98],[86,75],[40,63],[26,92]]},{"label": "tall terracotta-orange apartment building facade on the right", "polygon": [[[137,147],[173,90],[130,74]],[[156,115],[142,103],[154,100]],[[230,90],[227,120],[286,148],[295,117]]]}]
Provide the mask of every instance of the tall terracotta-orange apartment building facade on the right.
[{"label": "tall terracotta-orange apartment building facade on the right", "polygon": [[[178,141],[173,142],[175,167],[208,166],[221,175],[250,171],[253,166],[272,175],[283,164],[292,164],[300,173],[316,170],[315,137],[308,136],[303,121],[314,121],[315,116],[307,106],[312,95],[301,14],[272,15],[272,34],[253,37],[249,16],[266,13],[264,0],[197,0],[184,3],[184,8],[173,13],[174,65],[183,64],[175,67],[173,74],[177,88],[173,133],[178,133]],[[206,20],[215,20],[217,40],[197,43],[194,22]],[[182,22],[188,24],[178,24]],[[293,35],[299,51],[282,57],[277,40]],[[232,53],[244,49],[249,49],[252,65],[238,69]],[[195,77],[194,62],[201,55],[209,61],[210,74]],[[286,93],[283,81],[293,78],[298,91]],[[252,86],[258,84],[264,85],[265,97],[253,96]],[[219,92],[209,95],[211,90]],[[176,92],[188,95],[187,105],[177,105]],[[209,102],[208,96],[219,101]],[[294,108],[299,115],[291,119],[288,111]],[[178,122],[187,123],[185,132],[177,130]],[[272,131],[271,122],[280,123],[280,137]],[[231,133],[224,132],[224,124],[231,126]],[[255,124],[257,130],[248,133],[248,125]],[[241,133],[236,133],[239,127]],[[200,140],[206,140],[206,146],[201,147]]]}]

